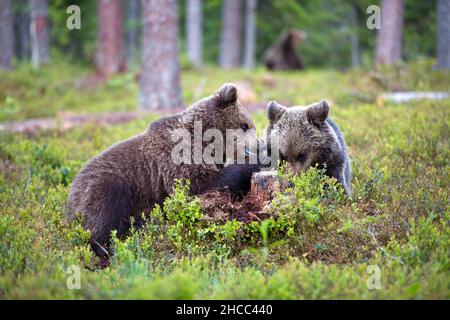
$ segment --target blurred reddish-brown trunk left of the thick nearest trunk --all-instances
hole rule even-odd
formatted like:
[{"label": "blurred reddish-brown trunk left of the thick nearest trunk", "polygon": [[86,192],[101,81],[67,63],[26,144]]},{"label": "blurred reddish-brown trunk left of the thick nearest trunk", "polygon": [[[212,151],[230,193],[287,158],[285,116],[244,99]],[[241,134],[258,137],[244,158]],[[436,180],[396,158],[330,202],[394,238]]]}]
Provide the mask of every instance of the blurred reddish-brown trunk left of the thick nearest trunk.
[{"label": "blurred reddish-brown trunk left of the thick nearest trunk", "polygon": [[121,0],[98,1],[97,73],[109,77],[125,71]]}]

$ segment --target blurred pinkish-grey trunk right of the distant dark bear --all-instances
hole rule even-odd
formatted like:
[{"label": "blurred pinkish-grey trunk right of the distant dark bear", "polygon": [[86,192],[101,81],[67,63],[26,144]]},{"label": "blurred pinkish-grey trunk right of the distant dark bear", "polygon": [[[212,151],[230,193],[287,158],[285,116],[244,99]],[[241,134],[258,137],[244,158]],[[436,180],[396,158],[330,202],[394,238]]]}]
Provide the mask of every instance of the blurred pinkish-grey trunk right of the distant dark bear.
[{"label": "blurred pinkish-grey trunk right of the distant dark bear", "polygon": [[377,34],[376,64],[393,64],[402,58],[404,0],[382,0],[381,29]]}]

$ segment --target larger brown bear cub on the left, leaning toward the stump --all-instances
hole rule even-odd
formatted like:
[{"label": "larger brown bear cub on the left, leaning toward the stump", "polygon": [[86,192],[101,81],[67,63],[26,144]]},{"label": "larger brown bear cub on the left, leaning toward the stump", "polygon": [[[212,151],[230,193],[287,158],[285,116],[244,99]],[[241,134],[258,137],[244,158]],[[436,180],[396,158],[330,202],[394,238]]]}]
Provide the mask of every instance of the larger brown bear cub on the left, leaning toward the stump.
[{"label": "larger brown bear cub on the left, leaning toward the stump", "polygon": [[[225,84],[184,112],[163,117],[144,133],[113,145],[80,171],[69,193],[66,214],[70,220],[77,214],[83,216],[83,226],[91,231],[91,244],[98,255],[107,254],[103,245],[112,230],[119,236],[125,234],[131,217],[139,223],[142,212],[162,203],[172,192],[174,179],[189,179],[192,194],[210,189],[217,181],[222,163],[206,163],[203,158],[200,163],[173,161],[173,149],[179,143],[172,141],[173,133],[184,130],[192,137],[198,122],[201,133],[217,129],[225,137],[228,129],[242,129],[246,135],[255,132],[236,87]],[[204,141],[201,144],[206,145]],[[225,148],[223,152],[225,158]]]}]

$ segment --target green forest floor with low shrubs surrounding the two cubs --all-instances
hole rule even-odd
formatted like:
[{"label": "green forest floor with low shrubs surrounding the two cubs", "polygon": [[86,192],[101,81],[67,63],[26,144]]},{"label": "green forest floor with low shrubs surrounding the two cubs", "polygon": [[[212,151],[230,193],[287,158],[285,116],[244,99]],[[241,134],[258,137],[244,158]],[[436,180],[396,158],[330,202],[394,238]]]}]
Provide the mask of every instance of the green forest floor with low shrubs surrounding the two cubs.
[{"label": "green forest floor with low shrubs surrounding the two cubs", "polygon": [[[0,74],[0,122],[137,110],[135,73],[98,84],[89,72],[61,63]],[[224,82],[242,88],[259,134],[267,101],[328,99],[349,145],[352,197],[322,188],[328,181],[317,170],[283,174],[292,188],[267,215],[235,220],[207,214],[180,183],[144,228],[114,237],[111,265],[98,269],[89,234],[64,218],[70,183],[87,160],[159,114],[114,126],[0,132],[0,298],[450,298],[450,100],[380,98],[446,91],[448,72],[433,71],[430,61],[376,71],[207,67],[183,70],[185,103]],[[71,290],[78,271],[80,288]]]}]

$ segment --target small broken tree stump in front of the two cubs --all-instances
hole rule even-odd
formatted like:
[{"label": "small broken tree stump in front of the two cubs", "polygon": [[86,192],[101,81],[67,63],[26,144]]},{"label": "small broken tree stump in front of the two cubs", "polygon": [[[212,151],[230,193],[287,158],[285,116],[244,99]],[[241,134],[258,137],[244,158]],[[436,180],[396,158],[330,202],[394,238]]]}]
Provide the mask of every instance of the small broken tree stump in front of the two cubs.
[{"label": "small broken tree stump in front of the two cubs", "polygon": [[280,182],[276,171],[261,171],[252,175],[250,194],[261,208],[266,201],[273,199],[278,190]]}]

